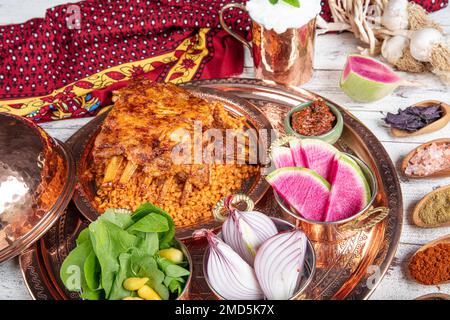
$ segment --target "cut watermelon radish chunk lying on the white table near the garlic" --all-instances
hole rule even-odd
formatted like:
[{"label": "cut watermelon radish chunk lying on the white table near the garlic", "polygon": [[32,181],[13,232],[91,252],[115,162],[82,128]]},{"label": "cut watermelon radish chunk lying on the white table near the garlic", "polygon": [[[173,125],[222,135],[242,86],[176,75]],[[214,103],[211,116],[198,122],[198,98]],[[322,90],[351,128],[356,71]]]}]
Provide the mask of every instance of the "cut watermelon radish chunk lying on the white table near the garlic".
[{"label": "cut watermelon radish chunk lying on the white table near the garlic", "polygon": [[373,102],[391,94],[405,81],[380,61],[351,54],[341,74],[341,89],[351,99]]}]

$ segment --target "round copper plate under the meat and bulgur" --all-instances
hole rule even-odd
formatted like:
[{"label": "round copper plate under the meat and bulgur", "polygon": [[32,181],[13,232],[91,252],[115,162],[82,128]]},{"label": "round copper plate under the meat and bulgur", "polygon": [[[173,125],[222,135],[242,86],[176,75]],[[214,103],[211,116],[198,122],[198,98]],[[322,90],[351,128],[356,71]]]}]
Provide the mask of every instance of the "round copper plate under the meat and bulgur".
[{"label": "round copper plate under the meat and bulgur", "polygon": [[[272,129],[272,125],[264,113],[245,99],[214,89],[190,87],[190,91],[195,96],[206,100],[222,102],[225,109],[234,117],[244,116],[246,119],[246,126],[249,129],[254,129],[256,132],[259,132],[259,130],[270,132]],[[84,172],[86,172],[92,161],[91,150],[105,117],[106,113],[94,118],[68,140],[68,144],[72,147],[77,166],[77,184],[73,200],[81,214],[90,221],[94,221],[98,218],[98,212],[93,206],[94,197],[96,195],[96,186],[95,182],[87,178]],[[260,136],[257,137],[257,139],[260,143],[259,146],[263,150],[262,152],[267,154],[267,150],[270,146],[270,137],[269,139],[265,139],[265,137]],[[238,192],[247,194],[255,203],[257,203],[262,199],[267,190],[269,190],[269,184],[261,175],[260,171],[257,175],[245,181]],[[190,238],[192,232],[199,227],[217,229],[220,226],[221,223],[215,221],[211,217],[208,220],[205,219],[199,221],[199,223],[191,226],[177,228],[176,236],[179,239],[186,239]]]}]

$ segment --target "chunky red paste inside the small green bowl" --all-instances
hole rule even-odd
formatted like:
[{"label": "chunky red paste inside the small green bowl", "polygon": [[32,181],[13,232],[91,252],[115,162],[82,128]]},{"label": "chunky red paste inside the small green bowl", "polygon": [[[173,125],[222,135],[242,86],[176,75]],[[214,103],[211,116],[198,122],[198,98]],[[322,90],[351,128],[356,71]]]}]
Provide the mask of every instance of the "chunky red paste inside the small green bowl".
[{"label": "chunky red paste inside the small green bowl", "polygon": [[334,127],[336,117],[322,99],[292,114],[292,128],[302,136],[320,136]]}]

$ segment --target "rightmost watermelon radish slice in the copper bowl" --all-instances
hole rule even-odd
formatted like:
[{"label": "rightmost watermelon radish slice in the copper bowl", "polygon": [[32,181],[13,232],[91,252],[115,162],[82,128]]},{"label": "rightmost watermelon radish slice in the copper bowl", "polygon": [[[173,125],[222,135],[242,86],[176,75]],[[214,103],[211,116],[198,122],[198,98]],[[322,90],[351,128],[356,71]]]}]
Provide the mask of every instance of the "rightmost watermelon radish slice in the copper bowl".
[{"label": "rightmost watermelon radish slice in the copper bowl", "polygon": [[338,221],[354,216],[364,209],[371,198],[370,186],[352,158],[341,154],[333,162],[330,177],[332,187],[325,221]]}]

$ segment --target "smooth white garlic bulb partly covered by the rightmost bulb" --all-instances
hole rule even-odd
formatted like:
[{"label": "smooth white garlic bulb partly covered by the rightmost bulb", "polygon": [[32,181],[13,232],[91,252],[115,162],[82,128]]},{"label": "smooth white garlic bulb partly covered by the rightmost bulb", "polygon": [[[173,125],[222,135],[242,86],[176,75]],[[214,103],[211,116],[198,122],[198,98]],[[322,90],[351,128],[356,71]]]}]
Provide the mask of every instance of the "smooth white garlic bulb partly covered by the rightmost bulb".
[{"label": "smooth white garlic bulb partly covered by the rightmost bulb", "polygon": [[434,28],[414,31],[410,43],[411,55],[419,61],[429,62],[434,46],[443,40],[442,34]]}]

